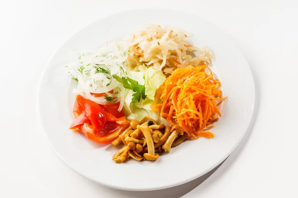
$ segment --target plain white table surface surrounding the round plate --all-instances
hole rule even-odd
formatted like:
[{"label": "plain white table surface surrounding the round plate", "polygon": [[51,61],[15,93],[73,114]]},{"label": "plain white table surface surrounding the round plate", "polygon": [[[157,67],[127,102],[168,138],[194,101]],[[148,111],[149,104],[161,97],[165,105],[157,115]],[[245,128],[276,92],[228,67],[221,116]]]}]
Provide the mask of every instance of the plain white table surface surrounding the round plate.
[{"label": "plain white table surface surrounding the round plate", "polygon": [[[175,188],[128,192],[89,181],[56,157],[37,119],[36,90],[69,36],[143,7],[189,12],[232,37],[252,69],[257,103],[246,136],[217,170]],[[298,197],[297,0],[6,0],[0,21],[1,198]]]}]

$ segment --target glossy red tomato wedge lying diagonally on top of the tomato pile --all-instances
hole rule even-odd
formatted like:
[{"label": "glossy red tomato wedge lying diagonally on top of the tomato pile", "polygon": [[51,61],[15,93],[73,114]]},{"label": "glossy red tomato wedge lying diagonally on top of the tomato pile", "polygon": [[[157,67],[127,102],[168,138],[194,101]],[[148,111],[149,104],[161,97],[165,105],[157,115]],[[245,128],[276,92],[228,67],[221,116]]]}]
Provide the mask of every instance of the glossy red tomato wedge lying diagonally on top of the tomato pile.
[{"label": "glossy red tomato wedge lying diagonally on top of the tomato pile", "polygon": [[99,131],[106,123],[106,117],[102,108],[95,102],[85,99],[81,95],[76,96],[78,104],[83,108],[95,131]]}]

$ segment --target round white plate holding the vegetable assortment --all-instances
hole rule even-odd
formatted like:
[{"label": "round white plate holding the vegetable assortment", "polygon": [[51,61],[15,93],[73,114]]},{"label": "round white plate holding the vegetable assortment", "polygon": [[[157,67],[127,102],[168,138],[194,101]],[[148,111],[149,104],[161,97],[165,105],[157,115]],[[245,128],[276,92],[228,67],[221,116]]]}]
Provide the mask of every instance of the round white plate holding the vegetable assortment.
[{"label": "round white plate holding the vegetable assortment", "polygon": [[[157,161],[116,164],[117,151],[96,144],[69,130],[75,82],[67,73],[68,54],[94,50],[108,41],[132,34],[141,26],[155,23],[183,28],[193,33],[194,46],[208,45],[215,52],[212,69],[223,84],[228,99],[223,117],[212,130],[213,139],[199,138],[172,148]],[[254,108],[255,90],[250,68],[242,53],[216,27],[195,16],[166,9],[130,10],[88,25],[52,56],[38,90],[38,111],[44,130],[59,158],[77,173],[104,186],[145,191],[169,188],[196,179],[220,164],[245,134]],[[119,149],[119,148],[118,148]]]}]

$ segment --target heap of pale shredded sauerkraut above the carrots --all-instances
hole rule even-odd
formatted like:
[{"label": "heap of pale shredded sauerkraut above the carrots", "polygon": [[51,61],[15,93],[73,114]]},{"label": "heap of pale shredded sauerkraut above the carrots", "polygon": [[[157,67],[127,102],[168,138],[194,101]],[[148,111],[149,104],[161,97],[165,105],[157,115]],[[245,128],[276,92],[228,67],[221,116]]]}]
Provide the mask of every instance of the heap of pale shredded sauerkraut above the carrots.
[{"label": "heap of pale shredded sauerkraut above the carrots", "polygon": [[[148,25],[134,34],[128,48],[126,66],[140,65],[171,74],[177,67],[210,63],[213,53],[208,47],[198,49],[188,43],[191,34],[175,27]],[[191,55],[192,54],[192,55]]]}]

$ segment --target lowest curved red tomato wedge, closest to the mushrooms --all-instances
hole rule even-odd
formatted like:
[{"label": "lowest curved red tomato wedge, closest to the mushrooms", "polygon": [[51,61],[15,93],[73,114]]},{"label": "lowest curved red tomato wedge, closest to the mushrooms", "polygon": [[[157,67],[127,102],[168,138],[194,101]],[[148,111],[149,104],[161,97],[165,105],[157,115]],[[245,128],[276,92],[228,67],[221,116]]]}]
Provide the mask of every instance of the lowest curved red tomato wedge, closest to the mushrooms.
[{"label": "lowest curved red tomato wedge, closest to the mushrooms", "polygon": [[115,140],[127,127],[129,127],[129,122],[126,121],[125,124],[119,125],[116,122],[107,122],[106,127],[103,127],[100,131],[94,132],[94,128],[90,124],[83,124],[81,126],[81,131],[85,136],[97,143],[111,143]]}]

